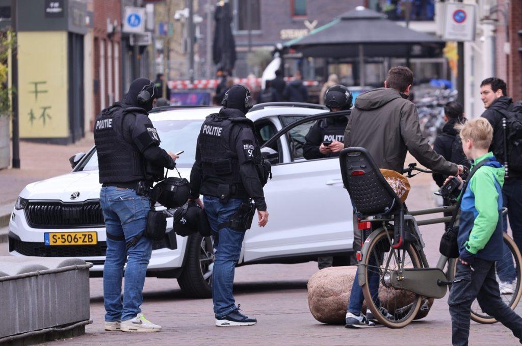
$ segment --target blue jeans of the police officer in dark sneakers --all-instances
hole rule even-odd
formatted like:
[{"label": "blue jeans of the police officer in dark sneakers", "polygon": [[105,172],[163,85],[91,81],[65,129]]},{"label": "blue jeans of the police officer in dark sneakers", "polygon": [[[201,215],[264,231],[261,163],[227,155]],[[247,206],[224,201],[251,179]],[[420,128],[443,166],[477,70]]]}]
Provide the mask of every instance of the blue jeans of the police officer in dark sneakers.
[{"label": "blue jeans of the police officer in dark sneakers", "polygon": [[216,254],[212,271],[212,302],[214,303],[216,318],[221,318],[237,309],[232,294],[232,286],[234,284],[235,265],[241,255],[245,232],[230,228],[218,230],[218,226],[230,220],[243,199],[230,198],[226,204],[223,204],[217,197],[204,196],[203,202],[212,229]]}]

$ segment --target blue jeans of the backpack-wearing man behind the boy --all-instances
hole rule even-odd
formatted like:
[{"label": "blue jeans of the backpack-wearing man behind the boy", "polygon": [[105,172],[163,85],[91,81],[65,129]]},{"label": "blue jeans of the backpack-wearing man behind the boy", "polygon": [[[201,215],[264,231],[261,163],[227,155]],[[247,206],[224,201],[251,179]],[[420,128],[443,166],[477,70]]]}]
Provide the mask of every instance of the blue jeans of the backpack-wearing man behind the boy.
[{"label": "blue jeans of the backpack-wearing man behind the boy", "polygon": [[[522,180],[508,180],[502,188],[502,201],[507,208],[504,215],[504,232],[507,233],[507,218],[513,232],[513,240],[522,251]],[[504,258],[496,263],[496,273],[503,282],[516,280],[513,256],[509,248],[504,244]]]}]

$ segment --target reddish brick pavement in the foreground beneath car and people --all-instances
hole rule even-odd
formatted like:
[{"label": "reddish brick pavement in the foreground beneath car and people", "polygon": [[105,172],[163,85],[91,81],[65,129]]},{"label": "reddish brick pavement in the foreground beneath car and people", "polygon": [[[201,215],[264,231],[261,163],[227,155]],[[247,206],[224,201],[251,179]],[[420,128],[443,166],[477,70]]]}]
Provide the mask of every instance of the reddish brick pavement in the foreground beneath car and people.
[{"label": "reddish brick pavement in the foreground beneath car and people", "polygon": [[[410,210],[434,206],[434,184],[429,175],[410,180],[412,190],[407,204]],[[348,199],[347,199],[348,202]],[[271,210],[276,213],[277,210]],[[441,225],[421,228],[430,264],[436,264]],[[6,244],[0,254],[7,252]],[[450,317],[447,295],[436,300],[429,315],[403,329],[351,330],[343,326],[318,323],[310,314],[306,283],[317,270],[315,262],[297,265],[252,265],[236,269],[234,293],[236,301],[248,315],[255,316],[253,327],[218,328],[213,325],[212,302],[209,299],[185,298],[174,279],[147,278],[145,303],[147,318],[163,326],[159,333],[129,334],[103,331],[102,279],[90,280],[91,319],[86,335],[58,340],[50,345],[444,345],[450,344]],[[517,310],[520,314],[522,311]],[[472,345],[515,345],[517,340],[502,325],[471,323]]]}]

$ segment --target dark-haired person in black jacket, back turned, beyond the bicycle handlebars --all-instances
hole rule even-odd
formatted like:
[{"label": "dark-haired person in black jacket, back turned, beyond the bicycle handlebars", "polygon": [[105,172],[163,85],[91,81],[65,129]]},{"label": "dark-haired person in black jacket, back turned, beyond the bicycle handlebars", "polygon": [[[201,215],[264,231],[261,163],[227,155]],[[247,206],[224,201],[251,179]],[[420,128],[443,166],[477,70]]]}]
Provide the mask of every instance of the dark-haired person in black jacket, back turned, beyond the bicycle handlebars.
[{"label": "dark-haired person in black jacket, back turned, beyond the bicycle handlebars", "polygon": [[[433,150],[441,154],[446,161],[465,165],[469,168],[469,160],[466,159],[462,151],[462,141],[455,129],[456,124],[463,124],[466,121],[462,106],[457,102],[448,102],[444,106],[444,121],[446,124],[442,128],[442,134],[435,138]],[[441,173],[433,173],[433,180],[439,187],[444,184],[447,176]]]}]

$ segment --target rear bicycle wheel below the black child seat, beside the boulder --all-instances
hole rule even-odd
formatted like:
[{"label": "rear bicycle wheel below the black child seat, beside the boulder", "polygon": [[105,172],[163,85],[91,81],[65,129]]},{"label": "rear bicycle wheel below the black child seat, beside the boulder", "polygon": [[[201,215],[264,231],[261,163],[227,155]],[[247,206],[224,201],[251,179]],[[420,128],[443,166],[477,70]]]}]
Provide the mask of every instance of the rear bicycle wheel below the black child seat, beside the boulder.
[{"label": "rear bicycle wheel below the black child seat, beside the boulder", "polygon": [[[388,234],[393,238],[393,230],[388,230]],[[401,268],[422,268],[417,249],[411,244],[404,250],[392,248],[387,232],[383,230],[371,242],[363,264],[364,266],[359,267],[366,270],[362,291],[366,306],[375,319],[389,328],[407,326],[419,312],[422,296],[393,288],[390,277],[392,272]],[[386,312],[393,317],[386,317]]]}]

